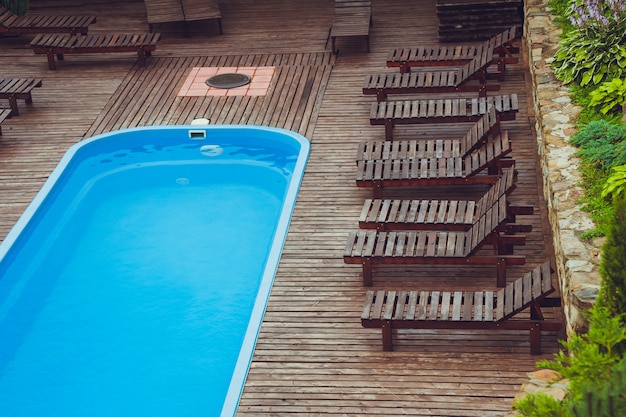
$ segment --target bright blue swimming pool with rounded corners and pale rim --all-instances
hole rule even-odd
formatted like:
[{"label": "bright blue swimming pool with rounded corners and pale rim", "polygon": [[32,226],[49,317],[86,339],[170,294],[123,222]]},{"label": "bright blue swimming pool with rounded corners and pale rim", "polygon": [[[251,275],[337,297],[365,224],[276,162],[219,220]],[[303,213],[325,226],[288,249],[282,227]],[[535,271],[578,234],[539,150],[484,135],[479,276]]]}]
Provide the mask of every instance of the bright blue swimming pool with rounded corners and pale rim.
[{"label": "bright blue swimming pool with rounded corners and pale rim", "polygon": [[74,145],[0,245],[0,415],[234,415],[308,153],[255,126]]}]

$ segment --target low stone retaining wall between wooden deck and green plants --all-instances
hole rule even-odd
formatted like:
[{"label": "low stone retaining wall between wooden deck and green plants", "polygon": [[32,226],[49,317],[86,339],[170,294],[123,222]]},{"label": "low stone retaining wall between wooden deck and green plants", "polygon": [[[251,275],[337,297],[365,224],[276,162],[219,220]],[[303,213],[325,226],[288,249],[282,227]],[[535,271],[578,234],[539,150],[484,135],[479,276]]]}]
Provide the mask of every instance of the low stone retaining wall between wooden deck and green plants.
[{"label": "low stone retaining wall between wooden deck and green plants", "polygon": [[576,148],[568,144],[576,132],[580,108],[571,102],[567,88],[555,78],[550,65],[559,35],[560,29],[553,24],[546,1],[527,0],[524,40],[534,89],[537,146],[569,335],[586,329],[580,312],[588,309],[598,294],[602,241],[587,243],[579,239],[593,228],[593,222],[576,205],[582,190],[577,186],[577,158],[573,156]]}]

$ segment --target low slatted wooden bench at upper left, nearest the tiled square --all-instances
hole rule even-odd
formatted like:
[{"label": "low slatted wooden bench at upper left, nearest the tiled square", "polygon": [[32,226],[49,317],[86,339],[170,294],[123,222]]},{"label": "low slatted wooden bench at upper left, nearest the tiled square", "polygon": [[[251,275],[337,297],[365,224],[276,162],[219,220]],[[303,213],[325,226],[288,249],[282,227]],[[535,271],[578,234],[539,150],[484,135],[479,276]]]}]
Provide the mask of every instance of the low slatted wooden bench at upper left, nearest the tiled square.
[{"label": "low slatted wooden bench at upper left, nearest the tiled square", "polygon": [[37,35],[30,43],[35,54],[48,57],[48,68],[56,69],[54,57],[63,60],[65,54],[88,54],[109,52],[136,52],[140,66],[146,65],[146,57],[156,50],[159,33],[111,34],[111,35]]}]

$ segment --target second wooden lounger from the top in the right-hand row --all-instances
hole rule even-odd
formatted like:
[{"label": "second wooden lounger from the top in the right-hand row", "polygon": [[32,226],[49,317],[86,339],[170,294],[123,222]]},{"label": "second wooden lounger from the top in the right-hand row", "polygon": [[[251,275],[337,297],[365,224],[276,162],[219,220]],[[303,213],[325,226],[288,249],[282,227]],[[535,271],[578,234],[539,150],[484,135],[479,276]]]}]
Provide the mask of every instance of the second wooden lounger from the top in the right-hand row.
[{"label": "second wooden lounger from the top in the right-hand row", "polygon": [[[368,75],[363,94],[376,95],[379,102],[386,100],[389,94],[477,92],[482,97],[487,91],[500,89],[500,85],[487,84],[487,67],[492,60],[493,48],[481,47],[479,54],[470,62],[453,70]],[[472,84],[471,80],[478,80],[478,83]]]}]

